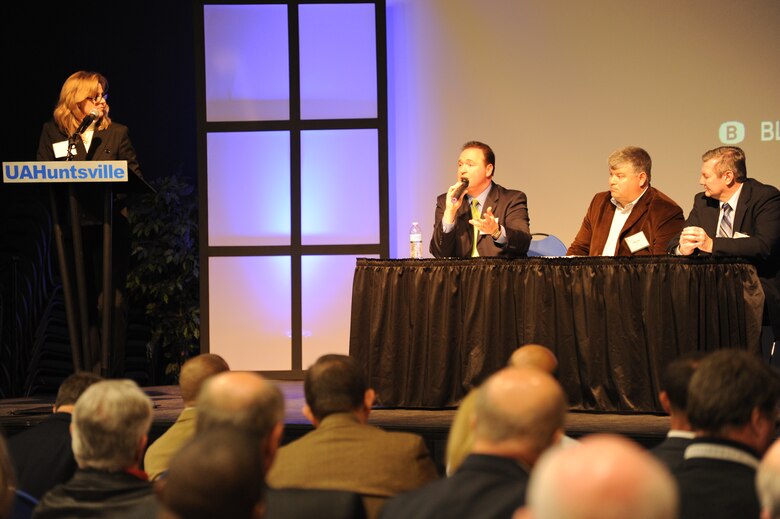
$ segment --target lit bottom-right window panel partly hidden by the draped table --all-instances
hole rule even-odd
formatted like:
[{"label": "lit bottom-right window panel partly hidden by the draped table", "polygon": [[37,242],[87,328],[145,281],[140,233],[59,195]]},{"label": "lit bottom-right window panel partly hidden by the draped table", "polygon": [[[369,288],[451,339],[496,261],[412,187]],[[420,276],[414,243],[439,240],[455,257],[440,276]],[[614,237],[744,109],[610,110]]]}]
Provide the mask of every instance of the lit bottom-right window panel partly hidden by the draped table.
[{"label": "lit bottom-right window panel partly hidden by the draped table", "polygon": [[[360,256],[378,258],[379,256]],[[349,354],[357,256],[303,256],[303,369],[327,353]]]}]

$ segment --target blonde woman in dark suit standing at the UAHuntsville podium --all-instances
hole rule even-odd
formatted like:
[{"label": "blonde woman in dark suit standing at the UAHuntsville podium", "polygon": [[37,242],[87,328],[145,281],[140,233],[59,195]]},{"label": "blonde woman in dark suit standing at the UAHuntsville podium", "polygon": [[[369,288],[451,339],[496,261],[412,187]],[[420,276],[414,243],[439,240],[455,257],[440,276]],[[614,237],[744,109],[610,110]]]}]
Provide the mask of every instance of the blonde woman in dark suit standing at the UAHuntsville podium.
[{"label": "blonde woman in dark suit standing at the UAHuntsville podium", "polygon": [[[133,144],[130,142],[127,126],[116,123],[109,117],[108,80],[97,72],[79,71],[72,74],[62,85],[59,100],[50,121],[43,125],[38,144],[37,160],[89,160],[108,161],[126,160],[129,173],[143,178],[138,166]],[[128,175],[132,176],[132,175]],[[129,180],[133,180],[132,178]],[[128,182],[129,184],[129,182]],[[59,186],[58,186],[59,187]],[[127,305],[124,301],[124,288],[130,259],[130,229],[124,209],[124,194],[114,194],[104,198],[105,186],[99,183],[79,183],[71,185],[68,197],[71,204],[71,228],[78,227],[83,241],[83,261],[79,265],[76,257],[76,280],[79,281],[79,268],[83,268],[82,278],[86,285],[86,310],[80,301],[77,320],[80,321],[80,334],[84,345],[81,369],[88,371],[101,365],[107,376],[121,376],[124,372],[124,345],[126,342]],[[75,199],[71,201],[70,199]],[[73,205],[75,202],[75,205]],[[57,193],[55,205],[62,211],[65,207],[63,193]],[[101,280],[103,234],[101,224],[106,218],[106,206],[110,206],[111,215],[111,279],[114,287],[113,331],[103,333],[103,342],[111,344],[110,353],[105,345],[101,347],[99,337],[102,319],[103,294]],[[78,215],[78,216],[74,216]],[[56,215],[58,220],[60,215]],[[77,219],[78,221],[73,221]],[[64,219],[63,219],[64,221]],[[63,233],[64,234],[64,233]],[[77,234],[73,233],[74,243]],[[71,244],[73,245],[73,244]],[[60,258],[60,270],[66,268],[66,261]],[[64,276],[63,276],[64,277]],[[82,290],[79,289],[81,294]],[[66,294],[67,297],[67,294]],[[81,299],[81,296],[80,296]],[[67,302],[66,302],[67,304]],[[75,305],[72,305],[75,307]],[[81,314],[87,314],[83,316]],[[86,317],[86,321],[84,321]],[[86,329],[85,329],[86,325]],[[71,335],[73,337],[73,335]],[[86,338],[86,339],[85,339]],[[107,338],[107,340],[105,339]],[[110,359],[103,357],[110,356]],[[74,359],[75,361],[76,359]],[[76,366],[74,366],[76,369]]]}]

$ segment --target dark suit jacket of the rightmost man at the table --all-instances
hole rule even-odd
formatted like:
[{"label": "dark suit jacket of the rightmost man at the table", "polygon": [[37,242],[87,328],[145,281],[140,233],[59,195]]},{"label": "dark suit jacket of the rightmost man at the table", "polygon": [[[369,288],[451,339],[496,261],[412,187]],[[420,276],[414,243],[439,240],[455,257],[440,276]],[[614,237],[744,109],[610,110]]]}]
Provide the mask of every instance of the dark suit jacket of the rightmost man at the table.
[{"label": "dark suit jacket of the rightmost man at the table", "polygon": [[[734,232],[748,238],[716,238],[719,216],[718,200],[699,193],[685,226],[704,229],[712,238],[713,256],[741,257],[756,266],[775,336],[780,337],[780,191],[752,178],[742,184],[733,227]],[[679,243],[677,234],[669,243],[669,252],[674,252]]]}]

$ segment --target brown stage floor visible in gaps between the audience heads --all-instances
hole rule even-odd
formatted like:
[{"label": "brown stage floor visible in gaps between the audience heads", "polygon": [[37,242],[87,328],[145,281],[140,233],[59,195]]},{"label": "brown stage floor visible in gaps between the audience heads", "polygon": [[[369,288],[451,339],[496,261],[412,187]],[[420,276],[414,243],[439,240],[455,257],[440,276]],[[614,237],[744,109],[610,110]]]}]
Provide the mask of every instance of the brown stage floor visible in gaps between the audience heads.
[{"label": "brown stage floor visible in gaps between the audience heads", "polygon": [[[303,416],[303,381],[274,381],[285,397],[285,435],[283,442],[291,441],[311,430]],[[150,442],[159,437],[182,410],[177,386],[142,388],[154,403],[154,417],[149,434]],[[0,430],[8,437],[30,427],[51,414],[54,395],[49,397],[14,398],[0,400]],[[369,421],[388,430],[408,431],[422,436],[440,470],[443,467],[454,409],[383,409],[375,408]],[[645,447],[658,444],[669,428],[669,418],[654,414],[570,412],[566,418],[566,433],[578,438],[594,433],[614,433],[635,440]]]}]

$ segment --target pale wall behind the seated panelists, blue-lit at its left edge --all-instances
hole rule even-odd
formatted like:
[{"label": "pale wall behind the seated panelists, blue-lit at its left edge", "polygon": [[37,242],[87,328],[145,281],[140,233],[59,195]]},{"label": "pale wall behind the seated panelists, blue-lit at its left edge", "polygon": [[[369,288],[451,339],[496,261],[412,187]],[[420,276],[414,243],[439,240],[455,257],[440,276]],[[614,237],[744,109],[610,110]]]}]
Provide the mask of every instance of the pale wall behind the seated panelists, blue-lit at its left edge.
[{"label": "pale wall behind the seated panelists, blue-lit at its left edge", "polygon": [[471,139],[528,195],[531,231],[567,245],[624,145],[687,215],[701,154],[738,121],[748,175],[780,186],[777,0],[388,0],[387,15],[394,256],[413,220],[427,249]]}]

